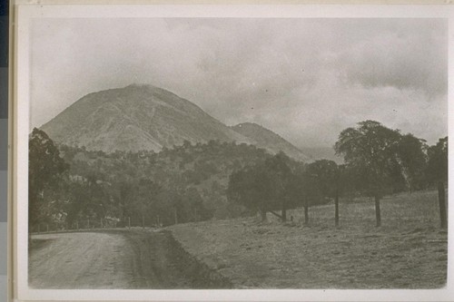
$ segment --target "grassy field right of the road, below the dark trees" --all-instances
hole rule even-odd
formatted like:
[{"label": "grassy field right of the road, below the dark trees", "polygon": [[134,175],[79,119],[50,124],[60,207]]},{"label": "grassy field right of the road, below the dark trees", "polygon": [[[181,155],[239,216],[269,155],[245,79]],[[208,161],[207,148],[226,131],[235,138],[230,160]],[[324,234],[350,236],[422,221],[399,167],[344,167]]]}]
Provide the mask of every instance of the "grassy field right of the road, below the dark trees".
[{"label": "grassy field right of the road, below the dark trees", "polygon": [[341,200],[293,209],[293,222],[269,217],[214,220],[169,229],[183,248],[238,288],[439,288],[447,278],[448,235],[439,229],[436,191],[381,201],[375,227],[373,200]]}]

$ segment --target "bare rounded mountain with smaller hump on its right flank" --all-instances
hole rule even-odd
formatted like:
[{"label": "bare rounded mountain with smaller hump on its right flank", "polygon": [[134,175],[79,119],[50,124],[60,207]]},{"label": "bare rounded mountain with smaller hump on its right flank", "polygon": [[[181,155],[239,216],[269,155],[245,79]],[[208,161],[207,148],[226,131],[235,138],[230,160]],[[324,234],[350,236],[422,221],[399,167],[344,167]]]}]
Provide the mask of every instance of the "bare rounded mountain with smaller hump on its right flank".
[{"label": "bare rounded mountain with smaller hump on its right flank", "polygon": [[[289,150],[279,146],[291,145],[287,141],[287,145],[283,143],[283,139],[279,143],[268,140],[268,145],[261,136],[242,133],[237,126],[228,127],[174,93],[137,84],[87,94],[41,129],[54,141],[107,152],[161,151],[163,147],[171,148],[183,141],[245,142],[271,153],[287,153]],[[294,157],[291,152],[288,155]],[[301,160],[303,157],[295,158]]]}]

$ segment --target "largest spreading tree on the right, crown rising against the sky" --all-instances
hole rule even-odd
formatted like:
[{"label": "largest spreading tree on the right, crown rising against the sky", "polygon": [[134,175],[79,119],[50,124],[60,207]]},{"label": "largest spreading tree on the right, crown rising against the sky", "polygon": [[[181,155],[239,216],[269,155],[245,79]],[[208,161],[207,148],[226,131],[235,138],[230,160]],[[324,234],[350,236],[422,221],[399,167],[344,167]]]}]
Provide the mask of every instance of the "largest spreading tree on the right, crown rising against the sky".
[{"label": "largest spreading tree on the right, crown rising against the sky", "polygon": [[400,132],[391,130],[380,122],[359,122],[356,128],[347,128],[339,135],[334,149],[344,161],[361,173],[361,184],[375,199],[377,227],[381,225],[380,199],[392,184]]}]

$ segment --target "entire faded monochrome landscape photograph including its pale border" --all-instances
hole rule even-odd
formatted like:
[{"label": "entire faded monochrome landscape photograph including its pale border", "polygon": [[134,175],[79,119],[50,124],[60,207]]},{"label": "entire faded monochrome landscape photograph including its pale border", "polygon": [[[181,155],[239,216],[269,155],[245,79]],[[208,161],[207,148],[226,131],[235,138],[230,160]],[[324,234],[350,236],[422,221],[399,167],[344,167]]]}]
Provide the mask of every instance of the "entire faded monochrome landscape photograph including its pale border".
[{"label": "entire faded monochrome landscape photograph including its pale border", "polygon": [[51,6],[18,15],[24,297],[447,290],[450,13]]}]

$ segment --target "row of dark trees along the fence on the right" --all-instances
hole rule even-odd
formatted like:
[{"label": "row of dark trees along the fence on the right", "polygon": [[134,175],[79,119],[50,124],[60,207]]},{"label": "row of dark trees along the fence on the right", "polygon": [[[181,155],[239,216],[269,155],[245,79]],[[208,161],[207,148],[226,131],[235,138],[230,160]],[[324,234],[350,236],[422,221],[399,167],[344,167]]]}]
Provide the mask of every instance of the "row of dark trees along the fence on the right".
[{"label": "row of dark trees along the fence on the right", "polygon": [[344,164],[328,160],[303,164],[279,153],[235,171],[229,180],[228,198],[261,213],[262,220],[270,212],[286,221],[287,209],[303,207],[306,222],[311,205],[332,199],[338,226],[340,196],[357,193],[374,199],[376,225],[380,227],[380,200],[384,195],[437,186],[440,224],[446,228],[448,137],[429,146],[411,133],[364,121],[343,130],[334,149],[343,156]]}]

